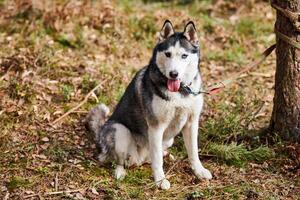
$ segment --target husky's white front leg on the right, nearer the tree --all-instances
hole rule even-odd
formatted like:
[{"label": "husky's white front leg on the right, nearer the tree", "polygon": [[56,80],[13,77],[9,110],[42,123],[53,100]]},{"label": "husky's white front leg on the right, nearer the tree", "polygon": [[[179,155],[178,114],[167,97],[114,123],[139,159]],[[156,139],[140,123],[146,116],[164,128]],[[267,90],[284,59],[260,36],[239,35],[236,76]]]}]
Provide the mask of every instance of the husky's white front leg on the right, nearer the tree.
[{"label": "husky's white front leg on the right, nearer the tree", "polygon": [[210,171],[205,169],[198,155],[198,121],[199,116],[191,116],[184,126],[182,133],[191,167],[198,178],[211,179]]}]

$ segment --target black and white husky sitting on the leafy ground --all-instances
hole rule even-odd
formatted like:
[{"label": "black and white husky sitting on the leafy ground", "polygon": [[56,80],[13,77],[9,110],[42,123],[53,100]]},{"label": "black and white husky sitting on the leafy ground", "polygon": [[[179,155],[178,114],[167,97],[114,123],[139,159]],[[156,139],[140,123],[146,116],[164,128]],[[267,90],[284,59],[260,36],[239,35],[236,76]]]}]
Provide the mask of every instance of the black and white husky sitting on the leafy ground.
[{"label": "black and white husky sitting on the leafy ground", "polygon": [[115,178],[125,166],[151,163],[156,185],[169,189],[163,154],[183,134],[191,168],[198,178],[211,179],[198,156],[198,123],[203,107],[200,50],[195,25],[175,32],[166,20],[150,62],[136,73],[114,112],[100,104],[86,118],[100,163],[115,160]]}]

